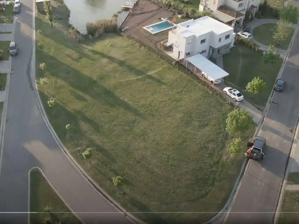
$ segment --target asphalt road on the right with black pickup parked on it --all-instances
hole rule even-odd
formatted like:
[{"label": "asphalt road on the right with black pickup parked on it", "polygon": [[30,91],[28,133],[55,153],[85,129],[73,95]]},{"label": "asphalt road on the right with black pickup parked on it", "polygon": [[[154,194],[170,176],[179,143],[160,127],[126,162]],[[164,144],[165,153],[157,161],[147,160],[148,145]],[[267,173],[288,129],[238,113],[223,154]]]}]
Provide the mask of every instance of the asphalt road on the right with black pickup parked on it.
[{"label": "asphalt road on the right with black pickup parked on it", "polygon": [[279,102],[279,106],[271,105],[259,134],[267,140],[266,156],[261,162],[249,161],[225,224],[273,223],[299,111],[298,53],[297,34],[281,76],[286,80],[285,89],[274,93],[273,101]]}]

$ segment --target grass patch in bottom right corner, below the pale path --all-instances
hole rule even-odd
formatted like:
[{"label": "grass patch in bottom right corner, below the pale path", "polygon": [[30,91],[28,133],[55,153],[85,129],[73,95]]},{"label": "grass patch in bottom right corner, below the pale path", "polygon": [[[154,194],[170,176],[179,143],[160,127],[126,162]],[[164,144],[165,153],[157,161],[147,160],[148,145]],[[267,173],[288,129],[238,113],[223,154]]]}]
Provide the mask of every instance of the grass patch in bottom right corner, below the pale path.
[{"label": "grass patch in bottom right corner, below the pale path", "polygon": [[299,222],[299,191],[285,191],[278,224]]}]

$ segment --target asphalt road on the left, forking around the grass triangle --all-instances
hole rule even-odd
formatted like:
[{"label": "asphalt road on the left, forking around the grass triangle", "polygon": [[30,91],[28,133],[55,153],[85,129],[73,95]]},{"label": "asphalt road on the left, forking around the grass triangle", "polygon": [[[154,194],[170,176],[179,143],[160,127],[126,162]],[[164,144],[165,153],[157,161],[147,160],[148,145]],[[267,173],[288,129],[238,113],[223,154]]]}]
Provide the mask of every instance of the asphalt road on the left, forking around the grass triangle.
[{"label": "asphalt road on the left, forking around the grass triangle", "polygon": [[[0,212],[28,211],[28,171],[40,167],[73,211],[83,212],[77,215],[84,223],[97,220],[129,223],[74,168],[42,119],[33,91],[32,8],[32,0],[23,0],[16,19],[14,40],[19,54],[12,59],[0,174]],[[55,211],[55,205],[51,206]],[[0,214],[0,223],[27,223],[27,217],[27,214]]]}]

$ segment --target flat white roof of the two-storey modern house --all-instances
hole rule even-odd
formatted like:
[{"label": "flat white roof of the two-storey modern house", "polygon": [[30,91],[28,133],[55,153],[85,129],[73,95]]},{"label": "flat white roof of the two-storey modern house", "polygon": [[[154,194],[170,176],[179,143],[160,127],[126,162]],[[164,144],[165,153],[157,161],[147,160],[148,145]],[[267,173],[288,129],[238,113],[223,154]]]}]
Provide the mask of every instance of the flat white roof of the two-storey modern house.
[{"label": "flat white roof of the two-storey modern house", "polygon": [[[216,34],[224,33],[230,30],[234,30],[222,22],[217,21],[209,16],[204,16],[199,19],[190,19],[186,22],[177,24],[177,26],[190,31],[193,34],[202,35],[213,31]],[[180,32],[182,33],[182,32]]]}]

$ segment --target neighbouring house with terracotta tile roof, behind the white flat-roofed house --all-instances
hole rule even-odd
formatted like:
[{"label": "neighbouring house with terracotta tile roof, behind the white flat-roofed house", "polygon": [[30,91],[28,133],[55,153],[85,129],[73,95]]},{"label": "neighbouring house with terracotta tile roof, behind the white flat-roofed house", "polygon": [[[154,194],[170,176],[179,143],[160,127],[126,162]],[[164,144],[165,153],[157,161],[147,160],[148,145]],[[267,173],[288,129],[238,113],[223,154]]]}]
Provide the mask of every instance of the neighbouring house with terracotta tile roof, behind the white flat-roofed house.
[{"label": "neighbouring house with terracotta tile roof, behind the white flat-roofed house", "polygon": [[199,11],[210,10],[215,18],[234,27],[236,22],[242,25],[247,10],[254,16],[259,6],[260,0],[201,0]]}]

